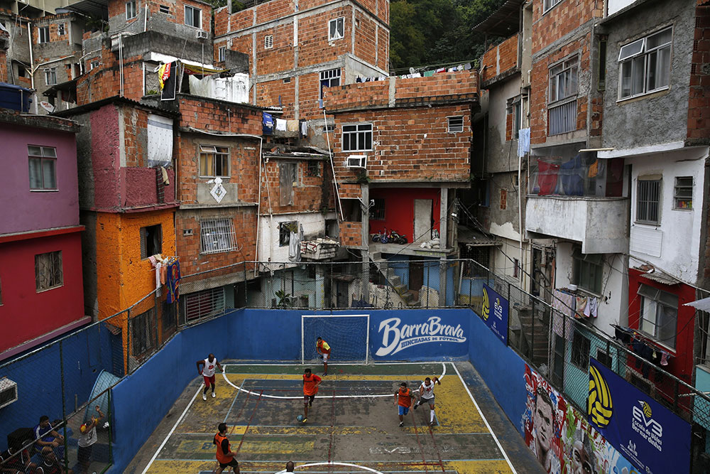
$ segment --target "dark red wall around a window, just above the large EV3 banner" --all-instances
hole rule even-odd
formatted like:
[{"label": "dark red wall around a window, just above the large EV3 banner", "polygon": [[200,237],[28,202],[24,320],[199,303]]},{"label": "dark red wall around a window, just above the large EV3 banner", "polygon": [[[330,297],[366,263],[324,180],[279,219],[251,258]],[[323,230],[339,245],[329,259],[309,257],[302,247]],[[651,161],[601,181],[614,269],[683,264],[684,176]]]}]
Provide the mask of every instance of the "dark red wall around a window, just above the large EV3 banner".
[{"label": "dark red wall around a window, just above the large EV3 banner", "polygon": [[691,306],[683,306],[684,303],[690,303],[695,301],[695,289],[692,286],[677,284],[677,285],[664,285],[651,281],[648,278],[641,277],[642,272],[629,269],[628,270],[628,280],[629,280],[629,292],[628,292],[628,324],[630,328],[638,329],[640,322],[641,313],[641,301],[640,296],[638,296],[638,288],[641,284],[652,286],[653,288],[660,289],[662,291],[667,291],[668,293],[673,293],[678,296],[678,325],[676,329],[676,340],[675,340],[675,350],[668,350],[668,348],[659,345],[658,347],[670,352],[671,359],[668,362],[665,369],[684,380],[685,382],[692,383],[693,374],[693,336],[695,331],[695,309]]}]

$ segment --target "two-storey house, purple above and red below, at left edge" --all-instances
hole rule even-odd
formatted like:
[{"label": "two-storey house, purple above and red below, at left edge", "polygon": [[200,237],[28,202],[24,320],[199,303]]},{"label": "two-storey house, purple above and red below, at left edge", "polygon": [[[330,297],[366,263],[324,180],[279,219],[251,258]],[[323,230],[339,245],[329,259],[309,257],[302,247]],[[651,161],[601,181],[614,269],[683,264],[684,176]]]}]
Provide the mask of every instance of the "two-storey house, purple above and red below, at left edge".
[{"label": "two-storey house, purple above and red below, at left edge", "polygon": [[75,134],[0,109],[0,360],[88,323]]}]

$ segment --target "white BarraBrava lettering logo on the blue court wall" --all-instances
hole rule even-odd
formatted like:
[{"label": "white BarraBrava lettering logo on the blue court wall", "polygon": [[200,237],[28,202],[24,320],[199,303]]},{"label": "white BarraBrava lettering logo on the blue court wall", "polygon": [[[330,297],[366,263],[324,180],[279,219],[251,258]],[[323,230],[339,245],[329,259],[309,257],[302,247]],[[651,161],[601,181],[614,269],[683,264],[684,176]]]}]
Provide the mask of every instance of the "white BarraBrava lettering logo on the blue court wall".
[{"label": "white BarraBrava lettering logo on the blue court wall", "polygon": [[442,324],[442,318],[430,316],[419,324],[402,324],[400,318],[389,318],[380,323],[382,346],[375,355],[392,355],[413,345],[425,343],[465,343],[460,324]]}]

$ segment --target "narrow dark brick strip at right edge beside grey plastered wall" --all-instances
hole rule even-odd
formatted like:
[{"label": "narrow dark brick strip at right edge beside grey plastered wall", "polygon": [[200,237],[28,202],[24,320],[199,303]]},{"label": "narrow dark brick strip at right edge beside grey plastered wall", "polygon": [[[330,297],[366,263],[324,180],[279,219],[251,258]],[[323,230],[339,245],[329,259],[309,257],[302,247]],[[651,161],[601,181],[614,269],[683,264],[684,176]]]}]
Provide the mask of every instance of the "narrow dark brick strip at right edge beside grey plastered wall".
[{"label": "narrow dark brick strip at right edge beside grey plastered wall", "polygon": [[[695,41],[693,42],[688,102],[688,139],[705,140],[710,136],[710,6],[695,7]],[[709,239],[710,245],[710,239]],[[710,249],[710,246],[708,247]],[[709,276],[710,269],[705,270]]]}]

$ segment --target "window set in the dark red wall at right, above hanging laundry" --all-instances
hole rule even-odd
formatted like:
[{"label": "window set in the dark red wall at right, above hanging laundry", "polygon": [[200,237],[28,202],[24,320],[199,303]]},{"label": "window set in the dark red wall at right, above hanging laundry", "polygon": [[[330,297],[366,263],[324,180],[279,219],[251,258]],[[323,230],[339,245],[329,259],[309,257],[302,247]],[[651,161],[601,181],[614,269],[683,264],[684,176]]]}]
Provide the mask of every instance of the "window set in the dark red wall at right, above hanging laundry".
[{"label": "window set in the dark red wall at right, above hanging laundry", "polygon": [[638,287],[638,295],[641,297],[639,329],[660,343],[675,348],[678,296],[644,284]]}]

